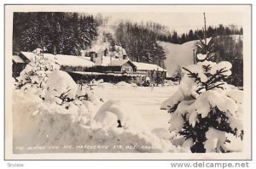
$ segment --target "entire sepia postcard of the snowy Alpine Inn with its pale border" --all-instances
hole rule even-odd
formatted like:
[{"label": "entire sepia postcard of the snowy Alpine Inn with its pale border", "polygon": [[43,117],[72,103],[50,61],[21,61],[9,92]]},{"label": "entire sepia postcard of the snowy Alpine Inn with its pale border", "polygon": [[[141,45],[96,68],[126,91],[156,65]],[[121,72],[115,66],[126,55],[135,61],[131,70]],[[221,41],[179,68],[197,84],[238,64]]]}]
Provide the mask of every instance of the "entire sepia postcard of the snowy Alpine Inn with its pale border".
[{"label": "entire sepia postcard of the snowy Alpine Inn with its pale border", "polygon": [[4,34],[7,159],[251,159],[251,5],[6,5]]}]

